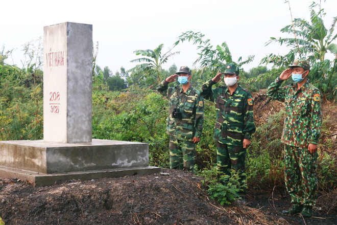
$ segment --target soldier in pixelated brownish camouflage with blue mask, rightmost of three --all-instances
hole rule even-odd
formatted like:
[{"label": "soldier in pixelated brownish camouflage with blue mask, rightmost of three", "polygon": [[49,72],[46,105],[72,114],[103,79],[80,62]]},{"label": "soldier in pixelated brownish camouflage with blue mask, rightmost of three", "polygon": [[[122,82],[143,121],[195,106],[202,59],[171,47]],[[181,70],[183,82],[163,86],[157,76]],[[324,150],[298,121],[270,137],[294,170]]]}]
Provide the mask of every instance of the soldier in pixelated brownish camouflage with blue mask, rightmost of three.
[{"label": "soldier in pixelated brownish camouflage with blue mask, rightmost of three", "polygon": [[[282,213],[312,216],[317,199],[317,143],[320,137],[321,92],[309,83],[310,65],[297,59],[269,87],[268,96],[285,103],[281,141],[284,147],[284,178],[292,208]],[[284,80],[295,83],[281,87]]]}]

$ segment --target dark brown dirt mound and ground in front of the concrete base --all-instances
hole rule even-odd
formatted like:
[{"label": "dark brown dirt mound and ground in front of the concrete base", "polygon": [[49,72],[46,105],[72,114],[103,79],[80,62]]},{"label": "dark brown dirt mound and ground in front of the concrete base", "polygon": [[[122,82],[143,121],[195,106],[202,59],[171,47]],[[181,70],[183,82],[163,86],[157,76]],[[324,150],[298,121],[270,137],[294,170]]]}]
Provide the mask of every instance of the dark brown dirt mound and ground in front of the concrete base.
[{"label": "dark brown dirt mound and ground in front of the concrete base", "polygon": [[333,201],[336,194],[321,196],[314,217],[303,219],[280,213],[290,207],[282,189],[250,190],[246,205],[235,201],[223,207],[209,199],[201,182],[201,177],[171,169],[47,187],[2,178],[0,217],[6,225],[337,224],[336,211],[324,208],[324,202]]}]

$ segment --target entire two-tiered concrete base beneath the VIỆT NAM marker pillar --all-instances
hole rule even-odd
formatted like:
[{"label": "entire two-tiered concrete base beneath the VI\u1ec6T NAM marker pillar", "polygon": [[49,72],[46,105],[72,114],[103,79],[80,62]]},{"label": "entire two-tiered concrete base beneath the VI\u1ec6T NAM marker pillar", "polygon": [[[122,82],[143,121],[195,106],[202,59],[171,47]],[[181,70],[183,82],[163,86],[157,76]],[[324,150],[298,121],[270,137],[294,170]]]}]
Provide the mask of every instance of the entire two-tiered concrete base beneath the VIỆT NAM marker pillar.
[{"label": "entire two-tiered concrete base beneath the VI\u1ec6T NAM marker pillar", "polygon": [[89,143],[0,141],[0,177],[34,186],[160,171],[149,166],[149,144],[93,139]]}]

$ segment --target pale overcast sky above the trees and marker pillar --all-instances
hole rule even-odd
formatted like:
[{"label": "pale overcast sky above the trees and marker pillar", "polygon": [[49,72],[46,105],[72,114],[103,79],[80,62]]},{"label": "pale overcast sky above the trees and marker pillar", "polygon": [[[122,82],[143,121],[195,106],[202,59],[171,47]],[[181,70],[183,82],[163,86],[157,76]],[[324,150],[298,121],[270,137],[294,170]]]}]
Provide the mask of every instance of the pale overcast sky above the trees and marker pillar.
[{"label": "pale overcast sky above the trees and marker pillar", "polygon": [[[319,3],[319,1],[316,1]],[[290,0],[293,18],[309,20],[308,7],[312,1]],[[330,28],[337,16],[337,1],[322,0]],[[14,50],[14,63],[21,65],[22,46],[28,41],[43,38],[43,27],[61,22],[79,22],[93,26],[93,41],[99,42],[97,64],[115,73],[121,66],[127,70],[136,65],[135,50],[154,50],[163,43],[162,53],[173,47],[182,32],[201,32],[214,47],[226,41],[233,60],[255,55],[244,69],[256,67],[266,54],[285,54],[288,49],[278,44],[264,44],[270,37],[284,36],[280,29],[291,24],[289,5],[285,0],[120,0],[120,1],[2,1],[0,23],[0,51]],[[164,65],[177,67],[198,58],[197,46],[184,42],[172,51],[180,55]],[[332,57],[331,57],[332,58]],[[8,59],[12,64],[12,59]]]}]

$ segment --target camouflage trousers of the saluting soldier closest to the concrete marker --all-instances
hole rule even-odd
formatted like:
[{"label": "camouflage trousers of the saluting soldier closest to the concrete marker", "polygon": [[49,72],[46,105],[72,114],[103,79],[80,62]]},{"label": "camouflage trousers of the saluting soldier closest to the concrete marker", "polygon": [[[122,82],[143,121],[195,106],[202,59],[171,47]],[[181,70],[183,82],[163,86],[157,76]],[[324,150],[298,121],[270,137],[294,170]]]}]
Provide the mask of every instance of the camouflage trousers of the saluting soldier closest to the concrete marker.
[{"label": "camouflage trousers of the saluting soldier closest to the concrete marker", "polygon": [[194,173],[196,144],[170,137],[170,168]]}]

